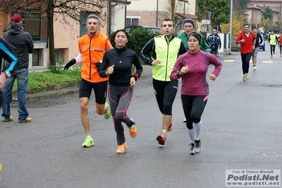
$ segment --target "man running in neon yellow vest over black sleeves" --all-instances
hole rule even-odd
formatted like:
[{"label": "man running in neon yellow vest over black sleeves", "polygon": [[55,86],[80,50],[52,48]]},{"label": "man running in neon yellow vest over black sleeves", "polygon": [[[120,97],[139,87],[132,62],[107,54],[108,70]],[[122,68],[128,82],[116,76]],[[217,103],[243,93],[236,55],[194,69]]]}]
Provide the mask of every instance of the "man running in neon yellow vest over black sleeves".
[{"label": "man running in neon yellow vest over black sleeves", "polygon": [[171,71],[180,54],[187,52],[183,42],[174,37],[174,23],[165,19],[161,23],[161,33],[147,42],[140,52],[140,59],[152,66],[154,93],[159,110],[164,115],[162,131],[157,136],[159,144],[166,142],[166,132],[172,129],[172,105],[178,90],[178,81],[171,81]]}]

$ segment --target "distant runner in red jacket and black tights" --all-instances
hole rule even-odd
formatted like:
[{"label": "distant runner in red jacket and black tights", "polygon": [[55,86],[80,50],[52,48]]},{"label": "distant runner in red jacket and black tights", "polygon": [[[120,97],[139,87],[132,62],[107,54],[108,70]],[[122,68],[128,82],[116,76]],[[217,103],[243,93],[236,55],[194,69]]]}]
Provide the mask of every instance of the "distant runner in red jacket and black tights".
[{"label": "distant runner in red jacket and black tights", "polygon": [[245,23],[244,30],[239,33],[236,44],[240,44],[240,53],[242,59],[243,81],[249,80],[250,59],[252,57],[252,50],[255,49],[257,36],[250,32],[250,26]]}]

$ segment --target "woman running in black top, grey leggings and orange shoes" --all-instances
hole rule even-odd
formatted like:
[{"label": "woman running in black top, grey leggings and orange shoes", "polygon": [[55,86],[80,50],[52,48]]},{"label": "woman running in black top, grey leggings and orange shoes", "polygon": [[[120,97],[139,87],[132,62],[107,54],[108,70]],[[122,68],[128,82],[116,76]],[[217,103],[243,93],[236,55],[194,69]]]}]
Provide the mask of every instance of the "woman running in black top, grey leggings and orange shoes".
[{"label": "woman running in black top, grey leggings and orange shoes", "polygon": [[[135,122],[126,114],[126,111],[133,98],[135,81],[140,78],[143,68],[137,54],[126,47],[128,33],[125,30],[116,30],[114,41],[116,46],[104,54],[99,76],[102,78],[109,76],[109,104],[118,141],[116,153],[124,153],[128,145],[125,143],[124,129],[121,122],[127,125],[130,136],[134,138],[137,134]],[[135,74],[131,73],[133,64],[136,67]],[[109,69],[107,69],[108,67]]]}]

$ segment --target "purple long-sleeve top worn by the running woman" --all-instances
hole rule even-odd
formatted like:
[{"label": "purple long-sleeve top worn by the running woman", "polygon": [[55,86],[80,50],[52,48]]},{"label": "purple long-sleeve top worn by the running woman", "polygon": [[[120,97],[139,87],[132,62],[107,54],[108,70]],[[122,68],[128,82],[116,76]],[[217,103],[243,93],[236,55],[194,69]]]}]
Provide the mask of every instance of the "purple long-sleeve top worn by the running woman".
[{"label": "purple long-sleeve top worn by the running woman", "polygon": [[[222,64],[213,54],[201,50],[191,53],[188,50],[188,52],[178,57],[171,72],[171,81],[176,81],[183,77],[181,95],[209,95],[209,84],[207,83],[209,64],[215,66],[212,74],[216,77],[219,76]],[[189,71],[182,76],[177,76],[176,72],[186,65],[188,65]]]}]

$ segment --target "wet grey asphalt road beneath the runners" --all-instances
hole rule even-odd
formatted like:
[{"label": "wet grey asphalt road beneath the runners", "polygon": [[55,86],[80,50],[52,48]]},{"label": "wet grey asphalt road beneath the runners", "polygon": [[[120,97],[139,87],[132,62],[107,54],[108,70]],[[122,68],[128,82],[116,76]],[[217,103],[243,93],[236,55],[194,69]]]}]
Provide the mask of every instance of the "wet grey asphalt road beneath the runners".
[{"label": "wet grey asphalt road beneath the runners", "polygon": [[128,150],[123,155],[116,154],[113,123],[95,112],[94,97],[89,112],[92,148],[81,147],[85,133],[77,92],[42,93],[42,98],[28,100],[32,122],[27,124],[16,121],[12,104],[14,121],[0,123],[0,187],[216,188],[226,187],[226,170],[281,170],[282,57],[276,51],[270,59],[268,48],[259,52],[250,81],[242,80],[238,52],[219,58],[223,68],[216,81],[209,81],[198,155],[188,155],[180,87],[173,104],[173,130],[165,146],[157,143],[162,116],[149,66],[137,81],[128,109],[138,133],[131,139],[125,131]]}]

